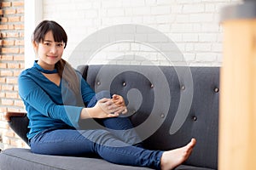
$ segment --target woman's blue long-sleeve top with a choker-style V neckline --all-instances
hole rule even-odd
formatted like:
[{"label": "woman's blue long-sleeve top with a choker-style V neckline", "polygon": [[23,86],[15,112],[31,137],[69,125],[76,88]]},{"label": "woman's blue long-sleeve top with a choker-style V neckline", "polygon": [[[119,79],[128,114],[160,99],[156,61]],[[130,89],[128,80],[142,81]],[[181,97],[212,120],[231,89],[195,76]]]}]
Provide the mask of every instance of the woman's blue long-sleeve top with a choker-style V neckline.
[{"label": "woman's blue long-sleeve top with a choker-style V neckline", "polygon": [[[31,68],[22,71],[19,76],[19,94],[29,118],[28,139],[49,128],[79,128],[80,112],[95,95],[77,71],[84,102],[81,106],[73,91],[68,88],[68,82],[61,78],[58,86],[44,77],[42,72],[50,73],[35,61]],[[54,72],[56,70],[51,71]]]}]

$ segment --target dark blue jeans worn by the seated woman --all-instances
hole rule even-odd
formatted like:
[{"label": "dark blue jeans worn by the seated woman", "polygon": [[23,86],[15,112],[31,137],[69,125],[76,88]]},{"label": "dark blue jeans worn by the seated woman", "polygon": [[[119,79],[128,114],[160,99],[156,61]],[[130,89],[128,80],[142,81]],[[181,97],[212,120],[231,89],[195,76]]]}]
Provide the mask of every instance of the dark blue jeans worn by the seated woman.
[{"label": "dark blue jeans worn by the seated woman", "polygon": [[[99,95],[102,93],[96,94],[88,107],[106,97]],[[116,164],[160,169],[163,151],[143,149],[141,143],[137,143],[139,137],[128,118],[115,117],[98,121],[106,128],[48,129],[38,133],[30,141],[31,150],[55,156],[101,156]]]}]

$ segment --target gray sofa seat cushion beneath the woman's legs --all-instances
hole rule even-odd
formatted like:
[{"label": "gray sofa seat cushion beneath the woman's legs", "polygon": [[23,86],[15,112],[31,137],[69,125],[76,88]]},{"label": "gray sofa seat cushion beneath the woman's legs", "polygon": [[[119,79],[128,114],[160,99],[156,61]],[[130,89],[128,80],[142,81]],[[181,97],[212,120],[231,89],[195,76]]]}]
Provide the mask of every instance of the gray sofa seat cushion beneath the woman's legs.
[{"label": "gray sofa seat cushion beneath the woman's legs", "polygon": [[[7,149],[0,154],[1,170],[146,170],[147,167],[116,165],[98,158],[72,156],[46,156],[33,154],[29,149]],[[201,167],[180,166],[177,170],[212,170]]]}]

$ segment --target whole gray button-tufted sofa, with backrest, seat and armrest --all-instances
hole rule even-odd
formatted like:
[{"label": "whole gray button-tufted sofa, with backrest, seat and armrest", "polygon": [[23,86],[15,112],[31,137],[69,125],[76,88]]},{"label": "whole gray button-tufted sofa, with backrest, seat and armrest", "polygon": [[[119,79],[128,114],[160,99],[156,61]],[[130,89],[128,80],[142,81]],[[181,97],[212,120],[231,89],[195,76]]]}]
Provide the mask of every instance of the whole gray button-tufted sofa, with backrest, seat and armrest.
[{"label": "whole gray button-tufted sofa, with backrest, seat and armrest", "polygon": [[[197,144],[189,159],[175,169],[218,169],[218,67],[154,65],[81,65],[78,70],[97,91],[121,94],[128,116],[146,148],[170,150]],[[9,125],[27,142],[26,113],[8,113]],[[85,122],[80,122],[81,126]],[[115,165],[98,157],[45,156],[29,149],[6,149],[1,170],[148,169]]]}]

